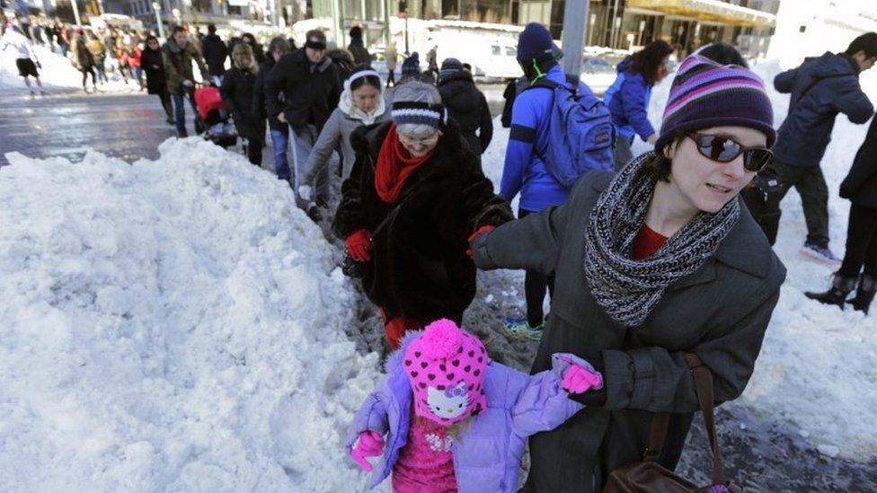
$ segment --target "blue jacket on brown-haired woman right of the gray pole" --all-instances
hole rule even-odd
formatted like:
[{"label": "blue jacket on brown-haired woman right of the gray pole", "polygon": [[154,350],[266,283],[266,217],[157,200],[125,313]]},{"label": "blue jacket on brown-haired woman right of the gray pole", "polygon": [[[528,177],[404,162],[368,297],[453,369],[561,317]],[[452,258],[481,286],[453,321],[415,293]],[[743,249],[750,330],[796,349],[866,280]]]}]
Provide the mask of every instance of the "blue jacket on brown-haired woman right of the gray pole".
[{"label": "blue jacket on brown-haired woman right of the gray pole", "polygon": [[649,121],[649,101],[651,86],[642,74],[629,72],[633,66],[633,57],[626,57],[618,66],[616,82],[612,83],[603,96],[609,107],[612,124],[619,136],[633,140],[639,135],[646,140],[655,133]]}]

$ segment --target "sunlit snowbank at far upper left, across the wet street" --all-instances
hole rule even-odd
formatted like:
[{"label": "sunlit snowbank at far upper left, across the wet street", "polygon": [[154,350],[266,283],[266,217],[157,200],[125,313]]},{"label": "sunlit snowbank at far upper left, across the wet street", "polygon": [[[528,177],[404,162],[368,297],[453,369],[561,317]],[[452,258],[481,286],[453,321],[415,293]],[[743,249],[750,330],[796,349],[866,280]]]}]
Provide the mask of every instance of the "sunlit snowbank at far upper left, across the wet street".
[{"label": "sunlit snowbank at far upper left, across the wet street", "polygon": [[[16,37],[22,36],[22,34],[7,31],[4,37],[7,36]],[[45,46],[35,45],[33,51],[42,65],[38,72],[40,72],[40,81],[47,92],[82,89],[82,73],[70,63],[70,59],[62,57],[60,53],[55,53]],[[18,75],[18,68],[15,66],[17,56],[18,54],[13,48],[0,50],[0,90],[7,95],[28,93],[24,80]],[[72,57],[72,54],[70,56]],[[98,84],[98,90],[101,92],[137,92],[139,90],[137,80],[128,79],[128,84],[125,84],[118,71],[111,72],[108,68],[107,77],[110,79],[109,83]],[[32,80],[31,84],[36,86]],[[146,84],[146,75],[144,75],[144,84]],[[88,88],[89,90],[92,88],[91,75],[88,76]]]}]

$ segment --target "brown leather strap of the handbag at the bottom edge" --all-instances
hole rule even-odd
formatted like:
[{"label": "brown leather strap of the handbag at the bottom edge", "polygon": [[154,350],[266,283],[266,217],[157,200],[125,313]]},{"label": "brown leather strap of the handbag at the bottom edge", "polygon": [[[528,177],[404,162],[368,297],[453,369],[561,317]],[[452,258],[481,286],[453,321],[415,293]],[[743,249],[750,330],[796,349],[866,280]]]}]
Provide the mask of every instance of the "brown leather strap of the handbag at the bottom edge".
[{"label": "brown leather strap of the handbag at the bottom edge", "polygon": [[[724,465],[722,464],[722,453],[719,450],[719,440],[715,434],[715,414],[714,414],[714,395],[713,395],[713,372],[704,365],[694,353],[685,353],[688,367],[695,378],[695,392],[697,393],[697,401],[700,403],[700,409],[704,412],[704,423],[706,425],[706,435],[710,439],[710,449],[713,452],[713,484],[725,484]],[[651,435],[649,437],[649,446],[645,450],[643,460],[645,462],[657,461],[664,447],[664,441],[667,438],[667,428],[669,427],[670,415],[667,412],[656,412],[651,418]]]}]

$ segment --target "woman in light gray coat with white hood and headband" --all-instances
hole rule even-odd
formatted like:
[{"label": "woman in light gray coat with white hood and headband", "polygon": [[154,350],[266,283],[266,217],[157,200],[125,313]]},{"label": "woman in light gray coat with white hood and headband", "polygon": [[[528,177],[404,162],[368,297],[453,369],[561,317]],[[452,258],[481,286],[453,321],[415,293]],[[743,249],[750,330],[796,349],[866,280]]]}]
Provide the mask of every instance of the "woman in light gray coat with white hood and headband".
[{"label": "woman in light gray coat with white hood and headband", "polygon": [[[383,84],[377,72],[365,64],[357,66],[350,77],[344,81],[344,91],[338,107],[332,111],[323,131],[317,138],[306,165],[301,170],[301,183],[298,195],[308,203],[314,198],[314,188],[325,190],[329,187],[329,160],[338,144],[341,143],[341,178],[347,180],[356,153],[350,145],[350,134],[364,125],[371,125],[387,119]],[[317,193],[316,197],[327,197]],[[325,204],[319,204],[324,207]]]}]

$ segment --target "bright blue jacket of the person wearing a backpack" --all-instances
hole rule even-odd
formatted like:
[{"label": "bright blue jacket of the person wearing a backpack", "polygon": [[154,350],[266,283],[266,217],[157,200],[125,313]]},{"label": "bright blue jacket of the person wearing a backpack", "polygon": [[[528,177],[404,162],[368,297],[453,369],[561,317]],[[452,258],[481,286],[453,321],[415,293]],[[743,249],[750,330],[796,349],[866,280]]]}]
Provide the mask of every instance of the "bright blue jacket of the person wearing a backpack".
[{"label": "bright blue jacket of the person wearing a backpack", "polygon": [[[560,66],[551,67],[545,77],[555,83],[566,84],[566,76]],[[580,87],[583,86],[580,84]],[[554,180],[545,163],[533,152],[533,144],[545,142],[547,138],[547,135],[540,133],[551,131],[543,128],[543,124],[549,118],[553,94],[548,88],[522,91],[511,109],[511,130],[502,168],[500,196],[511,202],[520,192],[520,208],[529,212],[563,206],[570,196],[570,190]]]}]

